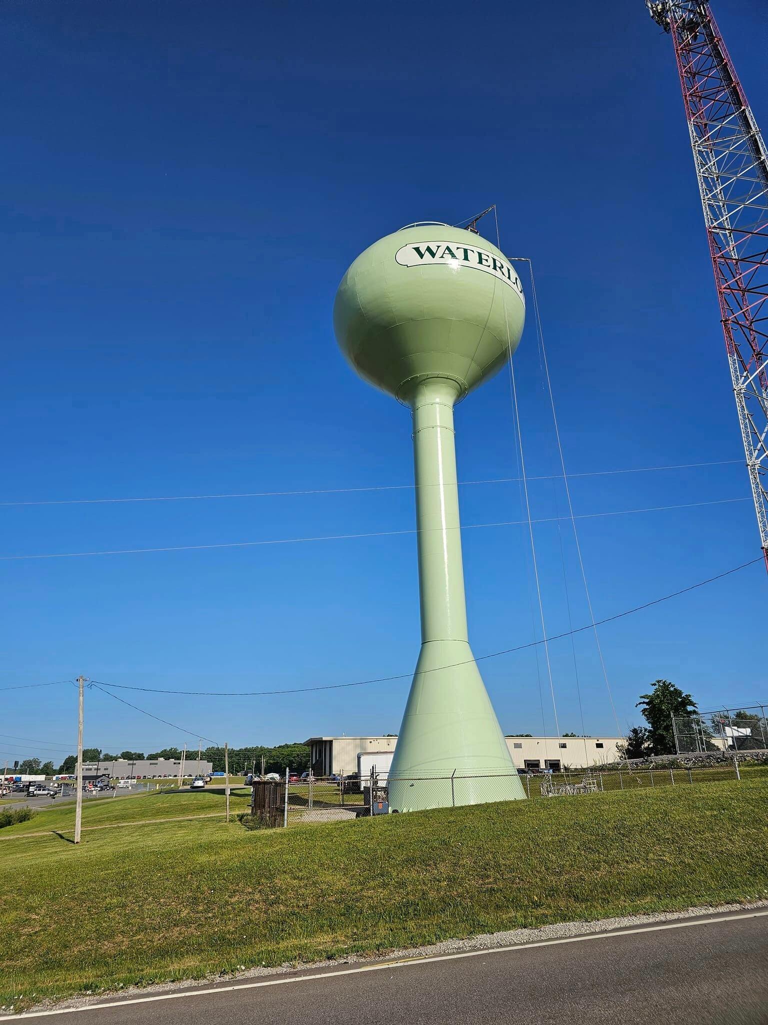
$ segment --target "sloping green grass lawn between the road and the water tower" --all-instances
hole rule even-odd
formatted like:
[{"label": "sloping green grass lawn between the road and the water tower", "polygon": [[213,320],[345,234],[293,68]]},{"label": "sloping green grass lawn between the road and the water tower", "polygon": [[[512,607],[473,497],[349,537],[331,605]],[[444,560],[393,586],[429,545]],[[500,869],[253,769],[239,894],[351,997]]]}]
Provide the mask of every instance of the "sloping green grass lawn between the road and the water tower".
[{"label": "sloping green grass lawn between the road and the water tower", "polygon": [[[659,787],[249,832],[221,819],[0,842],[0,1003],[768,897],[768,786]],[[86,824],[219,810],[98,803]],[[245,802],[245,798],[240,798]],[[223,801],[223,798],[219,798]],[[50,821],[48,821],[50,825]]]}]

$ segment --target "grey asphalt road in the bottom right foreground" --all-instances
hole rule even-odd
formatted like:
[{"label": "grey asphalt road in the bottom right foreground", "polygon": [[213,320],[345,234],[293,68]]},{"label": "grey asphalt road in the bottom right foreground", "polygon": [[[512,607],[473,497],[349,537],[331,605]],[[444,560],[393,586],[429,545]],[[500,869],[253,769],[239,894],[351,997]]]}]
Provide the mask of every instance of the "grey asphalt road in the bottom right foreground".
[{"label": "grey asphalt road in the bottom right foreground", "polygon": [[[44,1017],[87,1025],[765,1025],[768,914],[731,912],[172,992]],[[22,1017],[33,1016],[41,1017]]]}]

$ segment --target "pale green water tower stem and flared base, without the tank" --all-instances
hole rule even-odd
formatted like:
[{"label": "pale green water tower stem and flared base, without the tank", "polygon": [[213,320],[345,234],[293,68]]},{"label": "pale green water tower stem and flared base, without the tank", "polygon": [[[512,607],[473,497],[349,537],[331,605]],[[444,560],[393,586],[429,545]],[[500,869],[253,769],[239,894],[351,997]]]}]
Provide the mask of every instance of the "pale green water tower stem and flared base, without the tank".
[{"label": "pale green water tower stem and flared base, without the tank", "polygon": [[454,443],[460,391],[451,378],[429,377],[411,402],[422,647],[389,773],[393,811],[525,795],[467,636]]}]

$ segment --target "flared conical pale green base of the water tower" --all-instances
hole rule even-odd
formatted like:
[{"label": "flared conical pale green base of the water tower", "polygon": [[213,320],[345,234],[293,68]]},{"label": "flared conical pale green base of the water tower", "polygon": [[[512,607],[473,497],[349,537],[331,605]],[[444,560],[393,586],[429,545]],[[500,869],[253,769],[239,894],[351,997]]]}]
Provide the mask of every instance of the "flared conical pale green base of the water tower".
[{"label": "flared conical pale green base of the water tower", "polygon": [[525,796],[466,641],[422,645],[388,791],[393,812]]}]

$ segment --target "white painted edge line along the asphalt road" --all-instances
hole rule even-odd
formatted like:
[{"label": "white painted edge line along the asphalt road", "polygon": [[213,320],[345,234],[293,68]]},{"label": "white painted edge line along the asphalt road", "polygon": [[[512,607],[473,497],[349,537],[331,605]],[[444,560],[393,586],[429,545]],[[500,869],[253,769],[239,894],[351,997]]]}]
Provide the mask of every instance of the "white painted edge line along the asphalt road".
[{"label": "white painted edge line along the asphalt road", "polygon": [[382,969],[408,968],[411,965],[429,965],[432,961],[459,960],[462,957],[479,957],[490,954],[514,953],[534,947],[554,947],[562,943],[582,943],[585,940],[604,940],[607,937],[636,936],[638,933],[659,933],[667,929],[687,929],[691,926],[713,926],[719,921],[738,921],[745,918],[761,918],[765,911],[745,911],[740,914],[722,914],[711,918],[694,918],[689,921],[665,921],[659,926],[640,926],[637,929],[609,930],[605,933],[585,933],[581,936],[564,936],[557,940],[537,940],[532,943],[514,943],[508,947],[486,947],[482,950],[463,950],[455,954],[433,954],[424,957],[400,957],[391,961],[377,961],[375,965],[359,965],[356,968],[341,969],[338,972],[315,972],[313,975],[288,976],[261,979],[258,982],[241,982],[231,986],[213,986],[208,989],[187,989],[179,993],[158,993],[155,996],[136,996],[126,1000],[111,1000],[104,1003],[88,1003],[83,1008],[62,1008],[59,1011],[30,1011],[20,1015],[0,1015],[0,1022],[20,1021],[24,1018],[48,1018],[51,1015],[80,1014],[84,1011],[104,1011],[108,1008],[124,1008],[132,1003],[154,1003],[157,1000],[180,1000],[191,996],[211,996],[215,993],[231,993],[237,989],[261,989],[265,986],[286,986],[295,982],[315,982],[335,979],[342,975],[360,975],[364,972],[380,972]]}]

